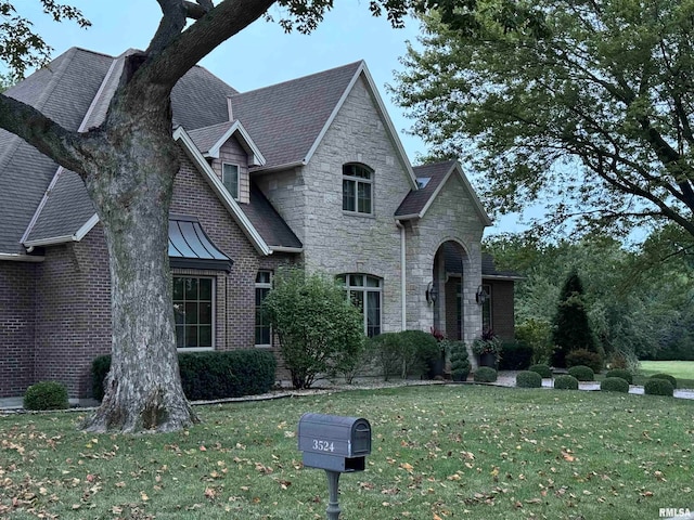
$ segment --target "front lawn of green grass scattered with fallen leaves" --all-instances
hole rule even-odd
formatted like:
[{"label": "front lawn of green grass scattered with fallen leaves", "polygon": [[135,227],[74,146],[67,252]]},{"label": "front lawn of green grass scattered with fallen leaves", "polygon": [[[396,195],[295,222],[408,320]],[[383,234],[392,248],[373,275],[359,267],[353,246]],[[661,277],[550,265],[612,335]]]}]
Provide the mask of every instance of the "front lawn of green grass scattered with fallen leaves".
[{"label": "front lawn of green grass scattered with fallen leaves", "polygon": [[[76,430],[79,415],[0,417],[0,518],[324,519],[301,468],[305,412],[365,417],[367,471],[342,520],[655,519],[694,506],[694,402],[479,386],[352,391],[197,408],[190,430]],[[42,517],[39,517],[42,515]]]}]

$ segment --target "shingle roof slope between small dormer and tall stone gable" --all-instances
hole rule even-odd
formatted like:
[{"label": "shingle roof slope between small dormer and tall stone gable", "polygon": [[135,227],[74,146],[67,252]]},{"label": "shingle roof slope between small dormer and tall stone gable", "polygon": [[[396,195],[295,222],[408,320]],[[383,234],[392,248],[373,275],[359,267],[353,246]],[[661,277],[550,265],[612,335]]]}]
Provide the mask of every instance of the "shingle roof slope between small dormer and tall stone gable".
[{"label": "shingle roof slope between small dormer and tall stone gable", "polygon": [[306,158],[362,63],[231,96],[233,117],[260,148],[264,168]]}]

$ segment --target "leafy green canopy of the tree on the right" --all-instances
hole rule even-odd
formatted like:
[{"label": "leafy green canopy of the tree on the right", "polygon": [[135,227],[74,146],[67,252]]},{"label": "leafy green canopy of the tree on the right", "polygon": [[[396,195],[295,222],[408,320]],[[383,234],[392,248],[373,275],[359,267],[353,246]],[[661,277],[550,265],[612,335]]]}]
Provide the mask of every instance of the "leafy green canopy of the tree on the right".
[{"label": "leafy green canopy of the tree on the right", "polygon": [[394,89],[413,131],[470,161],[500,212],[543,202],[552,225],[669,219],[694,235],[694,1],[516,3],[545,31],[484,9],[473,36],[424,18]]}]

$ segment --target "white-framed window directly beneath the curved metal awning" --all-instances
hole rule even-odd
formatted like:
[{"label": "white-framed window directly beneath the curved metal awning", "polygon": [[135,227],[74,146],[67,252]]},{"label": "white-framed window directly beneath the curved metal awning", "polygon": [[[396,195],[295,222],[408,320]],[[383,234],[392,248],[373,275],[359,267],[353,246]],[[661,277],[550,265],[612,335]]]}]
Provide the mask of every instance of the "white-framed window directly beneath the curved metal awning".
[{"label": "white-framed window directly beneath the curved metal awning", "polygon": [[213,348],[213,278],[174,277],[176,346]]}]

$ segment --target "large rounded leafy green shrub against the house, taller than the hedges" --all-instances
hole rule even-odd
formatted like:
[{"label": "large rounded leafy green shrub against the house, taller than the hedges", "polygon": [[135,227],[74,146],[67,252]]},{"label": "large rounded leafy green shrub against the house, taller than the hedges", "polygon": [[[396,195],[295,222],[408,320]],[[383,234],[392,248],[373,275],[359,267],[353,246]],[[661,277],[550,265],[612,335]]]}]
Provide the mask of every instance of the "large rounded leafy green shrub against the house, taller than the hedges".
[{"label": "large rounded leafy green shrub against the house, taller than the hedges", "polygon": [[333,280],[301,268],[279,269],[262,304],[294,388],[310,388],[319,374],[344,373],[359,363],[363,316]]}]

